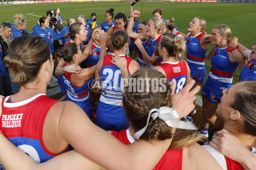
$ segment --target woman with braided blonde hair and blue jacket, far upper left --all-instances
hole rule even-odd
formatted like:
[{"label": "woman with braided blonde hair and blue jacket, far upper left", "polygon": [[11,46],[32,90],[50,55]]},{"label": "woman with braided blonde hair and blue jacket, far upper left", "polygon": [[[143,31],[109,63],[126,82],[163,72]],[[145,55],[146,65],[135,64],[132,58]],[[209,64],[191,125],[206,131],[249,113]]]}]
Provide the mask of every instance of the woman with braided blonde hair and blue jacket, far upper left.
[{"label": "woman with braided blonde hair and blue jacket, far upper left", "polygon": [[14,24],[12,24],[12,36],[13,38],[20,37],[23,34],[30,34],[28,30],[26,30],[26,19],[23,14],[16,14],[12,18]]}]

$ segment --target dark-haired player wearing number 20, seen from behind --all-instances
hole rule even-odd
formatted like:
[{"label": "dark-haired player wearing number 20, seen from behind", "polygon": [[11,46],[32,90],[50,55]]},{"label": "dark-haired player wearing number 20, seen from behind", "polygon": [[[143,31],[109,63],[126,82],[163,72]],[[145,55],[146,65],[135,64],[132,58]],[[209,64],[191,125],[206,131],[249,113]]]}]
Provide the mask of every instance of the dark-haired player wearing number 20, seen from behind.
[{"label": "dark-haired player wearing number 20, seen from behind", "polygon": [[[125,73],[129,76],[140,69],[139,64],[129,57],[125,56],[128,48],[129,37],[123,30],[117,30],[111,37],[113,45],[113,54],[100,59],[95,71],[96,84],[103,85],[102,94],[97,108],[96,125],[105,130],[117,131],[127,129],[127,118],[124,108],[121,108],[122,102],[122,77],[121,70],[112,63],[113,55],[119,55],[127,60]],[[107,78],[106,78],[107,77]]]}]

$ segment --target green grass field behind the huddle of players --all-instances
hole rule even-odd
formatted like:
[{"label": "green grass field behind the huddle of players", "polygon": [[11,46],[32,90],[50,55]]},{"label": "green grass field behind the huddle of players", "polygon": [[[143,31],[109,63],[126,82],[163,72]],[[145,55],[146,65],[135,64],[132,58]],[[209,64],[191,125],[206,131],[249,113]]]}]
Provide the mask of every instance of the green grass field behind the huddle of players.
[{"label": "green grass field behind the huddle of players", "polygon": [[[46,16],[46,11],[60,8],[61,16],[66,21],[68,17],[76,17],[84,14],[86,18],[96,12],[97,20],[100,23],[105,21],[105,11],[114,8],[114,15],[122,12],[128,16],[130,2],[84,2],[84,3],[48,3],[48,4],[27,4],[27,5],[8,5],[0,6],[0,23],[9,21],[13,23],[12,17],[17,14],[24,14],[27,20],[27,30],[32,33],[32,26],[35,26],[41,16]],[[187,34],[189,22],[194,17],[203,17],[207,21],[206,31],[211,33],[215,25],[226,24],[232,30],[232,36],[238,37],[239,42],[251,48],[256,41],[256,4],[246,3],[165,3],[165,2],[142,2],[133,6],[134,10],[142,11],[139,21],[150,20],[155,8],[163,11],[164,19],[175,18],[175,26],[179,31]],[[35,16],[36,15],[36,16]],[[64,26],[64,23],[63,23]],[[209,45],[208,51],[212,48]],[[211,62],[206,61],[207,77],[211,68]],[[237,70],[234,75],[233,83],[238,82],[240,71]],[[61,94],[59,94],[61,95]],[[201,94],[199,94],[201,95]],[[59,96],[56,96],[58,99]],[[201,107],[197,107],[197,114],[193,122],[201,128]],[[213,133],[209,129],[209,136]],[[210,139],[210,137],[209,137]]]}]

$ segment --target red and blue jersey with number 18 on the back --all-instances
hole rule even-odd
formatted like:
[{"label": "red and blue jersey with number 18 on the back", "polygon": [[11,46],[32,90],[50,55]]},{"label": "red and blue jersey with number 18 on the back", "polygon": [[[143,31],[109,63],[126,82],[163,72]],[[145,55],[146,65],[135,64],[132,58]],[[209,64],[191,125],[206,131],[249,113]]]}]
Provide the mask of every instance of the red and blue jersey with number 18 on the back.
[{"label": "red and blue jersey with number 18 on the back", "polygon": [[172,82],[172,79],[176,80],[175,93],[178,93],[183,88],[188,78],[186,62],[183,60],[177,62],[163,62],[159,67],[163,68],[170,83]]}]

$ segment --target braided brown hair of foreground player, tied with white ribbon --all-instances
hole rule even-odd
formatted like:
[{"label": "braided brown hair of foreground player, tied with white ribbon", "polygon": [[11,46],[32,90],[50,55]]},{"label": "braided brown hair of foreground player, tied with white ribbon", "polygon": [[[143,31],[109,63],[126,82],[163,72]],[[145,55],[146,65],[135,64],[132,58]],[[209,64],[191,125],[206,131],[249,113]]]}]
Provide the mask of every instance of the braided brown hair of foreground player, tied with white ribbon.
[{"label": "braided brown hair of foreground player, tied with white ribbon", "polygon": [[[163,106],[172,107],[172,89],[166,77],[159,71],[152,68],[143,68],[136,71],[131,76],[131,81],[133,81],[135,78],[143,78],[144,83],[141,83],[140,81],[140,86],[143,85],[144,87],[140,87],[140,92],[137,91],[136,88],[133,89],[133,91],[130,91],[129,89],[131,89],[131,87],[129,86],[131,86],[131,83],[129,83],[129,86],[125,87],[124,89],[122,102],[125,108],[126,116],[130,120],[131,127],[133,128],[134,132],[137,132],[145,127],[148,119],[148,113],[151,109],[160,108]],[[159,87],[162,87],[163,85],[166,86],[166,91],[153,92],[151,88],[147,87],[152,87],[152,83],[156,85],[155,81],[147,82],[148,80],[145,78],[166,79],[166,81],[162,81],[160,84],[158,84]],[[141,91],[142,89],[144,89],[144,91]],[[165,139],[171,139],[174,136],[172,139],[172,144],[169,147],[170,149],[180,149],[192,144],[193,142],[203,139],[201,136],[192,135],[195,132],[191,130],[177,129],[175,134],[172,134],[171,130],[172,127],[166,125],[166,123],[161,119],[156,119],[153,121],[153,119],[150,118],[148,127],[140,136],[140,139],[149,142],[150,140],[162,141]]]}]

